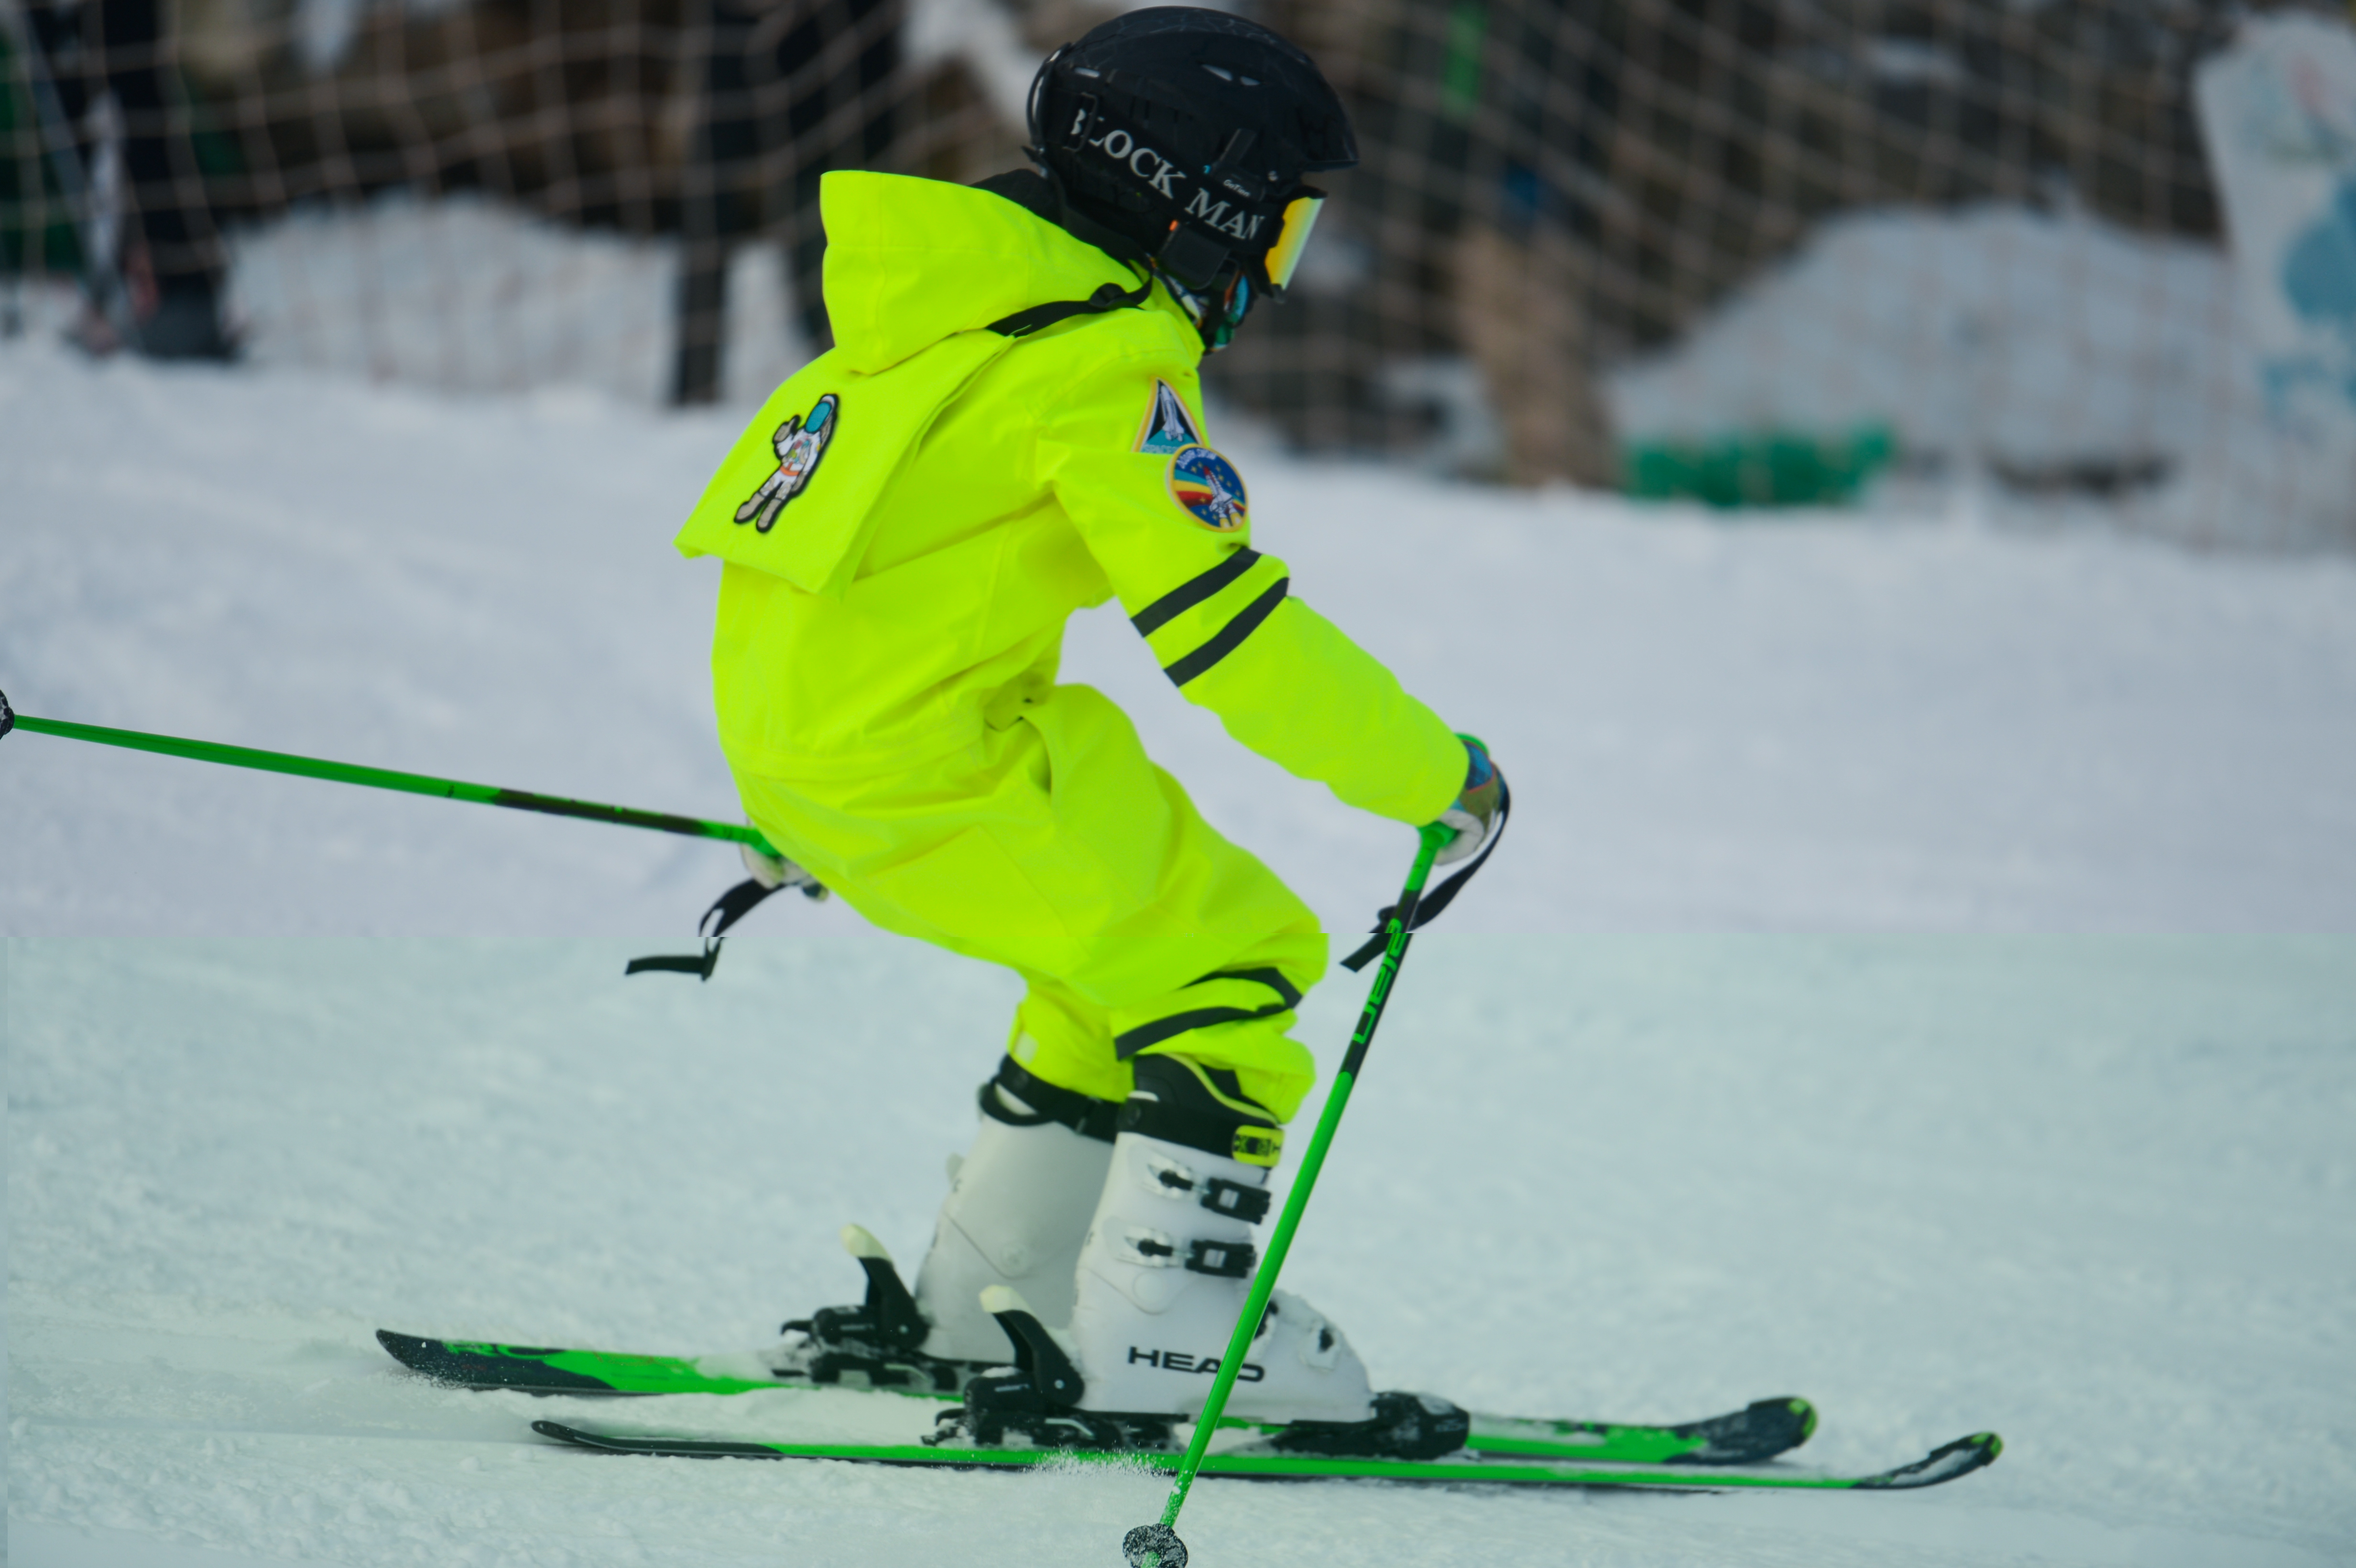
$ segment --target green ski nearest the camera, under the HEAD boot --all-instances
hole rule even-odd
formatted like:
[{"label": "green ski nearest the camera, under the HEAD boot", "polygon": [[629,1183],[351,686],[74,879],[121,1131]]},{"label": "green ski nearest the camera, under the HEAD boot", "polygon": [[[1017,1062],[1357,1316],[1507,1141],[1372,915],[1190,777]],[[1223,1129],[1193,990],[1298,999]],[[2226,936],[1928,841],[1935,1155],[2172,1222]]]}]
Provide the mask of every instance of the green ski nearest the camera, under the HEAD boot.
[{"label": "green ski nearest the camera, under the HEAD boot", "polygon": [[[1159,1450],[1098,1450],[1098,1448],[928,1448],[924,1443],[747,1443],[688,1436],[627,1436],[613,1431],[589,1431],[565,1422],[532,1422],[532,1431],[589,1448],[594,1453],[629,1453],[676,1460],[843,1460],[855,1464],[905,1464],[919,1469],[1030,1469],[1034,1464],[1121,1464],[1154,1471],[1176,1471],[1178,1455]],[[1595,1469],[1595,1460],[1531,1460],[1489,1457],[1468,1453],[1449,1460],[1336,1460],[1291,1453],[1265,1453],[1256,1448],[1209,1453],[1202,1460],[1206,1476],[1237,1476],[1246,1481],[1416,1481],[1442,1486],[1609,1486],[1633,1490],[1913,1490],[1941,1486],[1974,1469],[1986,1469],[2005,1450],[2003,1439],[1981,1431],[1955,1439],[1913,1464],[1885,1469],[1871,1476],[1762,1476],[1751,1471],[1677,1471],[1677,1469]]]}]

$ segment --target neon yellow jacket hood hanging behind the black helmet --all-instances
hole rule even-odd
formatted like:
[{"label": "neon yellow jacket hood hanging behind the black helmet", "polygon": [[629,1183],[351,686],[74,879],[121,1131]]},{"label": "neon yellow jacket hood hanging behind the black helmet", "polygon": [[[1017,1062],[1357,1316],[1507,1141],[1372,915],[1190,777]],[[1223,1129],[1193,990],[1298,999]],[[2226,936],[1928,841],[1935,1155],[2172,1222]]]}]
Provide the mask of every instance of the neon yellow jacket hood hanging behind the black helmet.
[{"label": "neon yellow jacket hood hanging behind the black helmet", "polygon": [[1098,247],[973,186],[843,170],[820,181],[818,210],[834,353],[860,374],[1037,304],[1138,287]]}]

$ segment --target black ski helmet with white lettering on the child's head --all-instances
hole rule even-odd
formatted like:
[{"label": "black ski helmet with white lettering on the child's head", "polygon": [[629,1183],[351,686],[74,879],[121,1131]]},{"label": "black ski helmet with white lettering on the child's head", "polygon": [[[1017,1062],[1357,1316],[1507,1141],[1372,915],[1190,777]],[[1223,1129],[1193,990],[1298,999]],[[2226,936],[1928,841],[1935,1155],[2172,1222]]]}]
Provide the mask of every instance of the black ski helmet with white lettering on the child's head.
[{"label": "black ski helmet with white lettering on the child's head", "polygon": [[[1308,54],[1192,5],[1129,12],[1055,49],[1032,80],[1030,134],[1065,202],[1180,285],[1209,290],[1232,268],[1277,299],[1324,198],[1303,177],[1357,162],[1350,115]],[[1270,275],[1286,238],[1286,275]]]}]

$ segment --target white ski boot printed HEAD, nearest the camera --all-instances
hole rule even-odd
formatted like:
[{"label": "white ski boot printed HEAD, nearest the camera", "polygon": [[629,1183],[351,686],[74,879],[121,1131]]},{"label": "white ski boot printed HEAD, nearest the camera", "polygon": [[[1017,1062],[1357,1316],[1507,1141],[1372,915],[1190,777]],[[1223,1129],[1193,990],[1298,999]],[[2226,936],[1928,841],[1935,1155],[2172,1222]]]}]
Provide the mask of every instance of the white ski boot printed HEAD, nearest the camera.
[{"label": "white ski boot printed HEAD, nearest the camera", "polygon": [[[1202,1410],[1258,1269],[1253,1227],[1270,1212],[1284,1132],[1230,1074],[1185,1057],[1140,1057],[1136,1069],[1070,1333],[1051,1333],[1015,1293],[990,1293],[1015,1366],[968,1380],[940,1436],[1166,1446]],[[1343,1333],[1284,1290],[1260,1316],[1225,1415],[1282,1424],[1272,1441],[1293,1453],[1435,1457],[1468,1429],[1447,1401],[1374,1394]]]}]

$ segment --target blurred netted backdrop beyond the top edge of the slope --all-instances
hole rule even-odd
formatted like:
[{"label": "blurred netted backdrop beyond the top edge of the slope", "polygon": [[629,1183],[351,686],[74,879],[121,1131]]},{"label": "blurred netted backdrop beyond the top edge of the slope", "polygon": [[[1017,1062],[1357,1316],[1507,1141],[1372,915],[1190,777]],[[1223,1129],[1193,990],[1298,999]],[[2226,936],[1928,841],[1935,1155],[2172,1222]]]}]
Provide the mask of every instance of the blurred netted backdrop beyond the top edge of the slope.
[{"label": "blurred netted backdrop beyond the top edge of the slope", "polygon": [[[1364,162],[1206,365],[1293,450],[2356,549],[2342,2],[1249,0]],[[744,403],[818,181],[1020,162],[1077,0],[9,0],[0,330]]]}]

